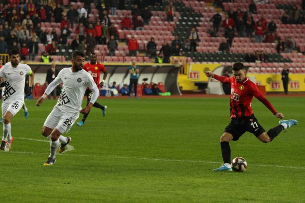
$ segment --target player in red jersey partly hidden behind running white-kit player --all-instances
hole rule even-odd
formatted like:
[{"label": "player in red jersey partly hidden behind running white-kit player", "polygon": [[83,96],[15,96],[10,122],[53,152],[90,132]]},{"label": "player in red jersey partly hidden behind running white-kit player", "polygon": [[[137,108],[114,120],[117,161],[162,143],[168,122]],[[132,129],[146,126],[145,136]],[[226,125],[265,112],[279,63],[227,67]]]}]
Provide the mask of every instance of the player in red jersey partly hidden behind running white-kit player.
[{"label": "player in red jersey partly hidden behind running white-kit player", "polygon": [[[84,64],[83,70],[85,70],[86,72],[88,72],[89,74],[92,75],[93,80],[97,84],[98,87],[99,86],[103,87],[103,85],[105,83],[105,79],[107,78],[107,74],[108,73],[106,71],[105,66],[103,64],[97,62],[97,54],[96,53],[90,54],[90,62]],[[104,73],[102,82],[100,82],[100,74],[101,74],[101,72]],[[85,93],[86,96],[87,96],[87,105],[90,102],[92,93],[93,92],[90,89],[87,88],[86,93]],[[100,105],[97,102],[95,102],[93,106],[102,110],[103,117],[106,115],[107,106],[102,106],[102,105]],[[89,115],[89,113],[90,113],[90,111],[87,114],[84,114],[84,117],[82,118],[81,121],[79,121],[77,123],[77,125],[79,125],[79,126],[84,125],[85,120],[86,120],[87,116]]]}]

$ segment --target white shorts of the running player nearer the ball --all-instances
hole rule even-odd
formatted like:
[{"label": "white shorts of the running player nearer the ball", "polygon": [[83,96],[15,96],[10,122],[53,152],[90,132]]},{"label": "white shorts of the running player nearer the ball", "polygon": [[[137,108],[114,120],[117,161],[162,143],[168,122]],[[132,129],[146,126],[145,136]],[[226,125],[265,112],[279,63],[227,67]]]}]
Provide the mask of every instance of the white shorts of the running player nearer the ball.
[{"label": "white shorts of the running player nearer the ball", "polygon": [[43,125],[51,129],[56,128],[60,133],[64,133],[70,130],[78,117],[79,112],[64,112],[55,106]]}]

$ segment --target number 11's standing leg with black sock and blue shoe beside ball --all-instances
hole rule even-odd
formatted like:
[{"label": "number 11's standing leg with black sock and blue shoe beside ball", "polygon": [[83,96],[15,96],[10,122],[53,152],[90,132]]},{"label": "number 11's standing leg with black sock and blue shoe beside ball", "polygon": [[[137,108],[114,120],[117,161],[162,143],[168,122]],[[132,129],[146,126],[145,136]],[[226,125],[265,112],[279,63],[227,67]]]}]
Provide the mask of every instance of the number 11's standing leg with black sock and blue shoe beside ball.
[{"label": "number 11's standing leg with black sock and blue shoe beside ball", "polygon": [[221,155],[224,161],[224,164],[219,168],[214,169],[213,171],[232,171],[231,167],[231,148],[229,142],[233,140],[233,136],[229,132],[224,132],[220,138],[221,146]]}]

